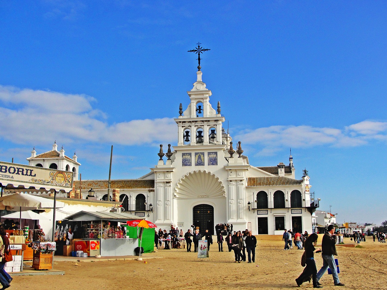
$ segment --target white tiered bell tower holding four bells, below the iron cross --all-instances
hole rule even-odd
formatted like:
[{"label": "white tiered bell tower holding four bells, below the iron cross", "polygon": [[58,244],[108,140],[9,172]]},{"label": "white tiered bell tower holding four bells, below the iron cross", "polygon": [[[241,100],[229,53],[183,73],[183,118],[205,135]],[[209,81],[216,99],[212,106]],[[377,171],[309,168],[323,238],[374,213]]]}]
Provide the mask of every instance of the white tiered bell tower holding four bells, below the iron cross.
[{"label": "white tiered bell tower holding four bells, below the iron cross", "polygon": [[180,116],[175,119],[178,125],[178,146],[221,145],[224,117],[220,114],[220,102],[217,110],[212,108],[209,98],[211,90],[205,87],[202,72],[199,70],[196,74],[194,87],[187,92],[190,104],[184,112],[180,104]]}]

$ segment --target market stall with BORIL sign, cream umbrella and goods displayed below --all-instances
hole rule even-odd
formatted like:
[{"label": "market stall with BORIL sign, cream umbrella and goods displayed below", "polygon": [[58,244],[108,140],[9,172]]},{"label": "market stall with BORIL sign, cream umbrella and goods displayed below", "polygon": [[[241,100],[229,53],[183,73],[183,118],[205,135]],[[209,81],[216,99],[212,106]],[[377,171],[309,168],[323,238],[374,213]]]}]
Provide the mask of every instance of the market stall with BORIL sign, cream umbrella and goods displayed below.
[{"label": "market stall with BORIL sign, cream umbrella and goods displayed below", "polygon": [[[31,232],[28,227],[24,227],[24,229],[21,228],[21,220],[22,220],[22,212],[28,211],[28,210],[44,210],[44,209],[53,209],[53,223],[55,223],[55,212],[57,208],[63,207],[64,203],[57,202],[56,196],[57,192],[60,190],[64,190],[66,192],[69,192],[72,190],[72,184],[73,184],[73,172],[69,171],[61,171],[57,169],[48,169],[48,168],[42,168],[42,167],[36,167],[36,166],[29,166],[24,164],[16,164],[16,163],[9,163],[9,162],[2,162],[0,161],[0,168],[2,174],[0,174],[0,184],[3,188],[3,186],[13,186],[14,188],[18,188],[16,193],[13,194],[1,194],[0,197],[0,210],[8,210],[11,212],[18,212],[19,213],[19,220],[20,222],[15,222],[19,224],[19,231],[20,232],[8,232],[10,235],[10,244],[12,254],[17,254],[17,259],[14,260],[16,262],[16,266],[13,266],[14,269],[18,269],[19,267],[19,259],[20,260],[20,270],[22,271],[22,263],[23,258],[31,259],[31,247],[32,242],[34,241],[33,236],[34,232]],[[27,194],[26,191],[23,189],[29,189],[29,188],[35,188],[35,189],[45,189],[47,191],[52,190],[54,193],[54,199],[51,200],[49,198],[43,198],[41,196],[36,196],[33,194]],[[25,193],[23,193],[25,192]],[[36,219],[36,218],[35,218]],[[15,229],[15,228],[13,228]],[[12,235],[11,235],[12,234]],[[41,241],[41,237],[38,238],[38,235],[35,235],[36,242],[50,242],[49,239],[43,239]],[[35,249],[32,253],[32,259],[33,263],[35,265],[38,265],[35,267],[35,269],[39,269],[39,264],[43,263],[43,260],[45,263],[51,263],[51,268],[53,264],[53,244],[50,246],[50,251],[43,251]],[[28,247],[31,246],[31,247]],[[31,250],[30,250],[31,249]],[[39,249],[41,249],[39,247]],[[44,249],[43,249],[44,250]],[[29,252],[27,254],[27,252]],[[51,259],[46,259],[48,257],[41,256],[41,254],[46,254],[51,256]],[[39,257],[38,257],[39,255]],[[19,258],[20,257],[20,258]],[[15,263],[14,263],[15,264]],[[48,266],[45,264],[44,269],[48,269]],[[43,269],[43,268],[40,268]]]}]

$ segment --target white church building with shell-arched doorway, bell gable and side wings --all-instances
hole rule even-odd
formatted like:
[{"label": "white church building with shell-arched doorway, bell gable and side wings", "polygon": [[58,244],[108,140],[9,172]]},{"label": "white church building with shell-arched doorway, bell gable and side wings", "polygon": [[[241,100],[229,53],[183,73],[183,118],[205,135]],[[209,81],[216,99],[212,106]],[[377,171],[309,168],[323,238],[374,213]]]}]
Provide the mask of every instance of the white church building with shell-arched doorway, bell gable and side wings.
[{"label": "white church building with shell-arched doorway, bell gable and side wings", "polygon": [[319,201],[310,195],[307,171],[296,178],[291,155],[289,165],[250,165],[241,142],[224,130],[220,102],[212,107],[200,70],[187,93],[188,106],[183,111],[180,104],[175,119],[177,142],[168,149],[160,145],[159,160],[148,174],[112,180],[110,196],[108,180],[82,181],[82,197],[92,188],[99,198],[120,201],[162,229],[174,225],[186,231],[194,225],[214,233],[215,225],[229,223],[254,235],[282,235],[284,229],[311,233]]}]

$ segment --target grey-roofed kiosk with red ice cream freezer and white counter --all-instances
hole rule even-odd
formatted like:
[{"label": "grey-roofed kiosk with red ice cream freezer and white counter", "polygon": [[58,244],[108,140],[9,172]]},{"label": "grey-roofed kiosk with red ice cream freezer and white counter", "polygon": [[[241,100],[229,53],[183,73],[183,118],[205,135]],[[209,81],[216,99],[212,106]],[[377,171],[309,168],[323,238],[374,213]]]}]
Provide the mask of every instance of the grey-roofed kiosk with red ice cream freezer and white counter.
[{"label": "grey-roofed kiosk with red ice cream freezer and white counter", "polygon": [[[128,220],[139,217],[128,213],[81,211],[68,216],[58,225],[77,226],[72,244],[64,248],[63,255],[82,251],[84,256],[131,256],[139,246],[137,232],[127,231],[124,225]],[[61,227],[61,226],[60,226]],[[57,227],[58,228],[58,227]],[[58,246],[59,247],[59,246]],[[71,250],[71,251],[70,251]],[[57,254],[57,253],[56,253]],[[79,253],[78,253],[79,254]]]}]

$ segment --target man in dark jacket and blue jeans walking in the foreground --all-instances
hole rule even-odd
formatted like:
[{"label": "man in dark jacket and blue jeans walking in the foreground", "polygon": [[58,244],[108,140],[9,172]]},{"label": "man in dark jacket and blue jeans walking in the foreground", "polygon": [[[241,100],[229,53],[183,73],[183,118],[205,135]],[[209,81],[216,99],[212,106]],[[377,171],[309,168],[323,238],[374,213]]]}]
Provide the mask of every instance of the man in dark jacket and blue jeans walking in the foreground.
[{"label": "man in dark jacket and blue jeans walking in the foreground", "polygon": [[335,226],[329,225],[328,231],[322,237],[322,245],[321,245],[322,255],[321,256],[323,259],[323,264],[320,271],[317,273],[317,285],[321,285],[319,283],[319,280],[329,267],[330,271],[332,272],[332,277],[333,277],[335,286],[344,286],[343,283],[340,283],[339,275],[337,275],[337,267],[336,267],[335,259],[333,257],[333,256],[337,256],[337,252],[336,252],[337,236],[334,235],[334,232],[335,232]]}]

